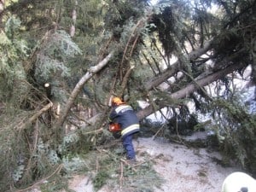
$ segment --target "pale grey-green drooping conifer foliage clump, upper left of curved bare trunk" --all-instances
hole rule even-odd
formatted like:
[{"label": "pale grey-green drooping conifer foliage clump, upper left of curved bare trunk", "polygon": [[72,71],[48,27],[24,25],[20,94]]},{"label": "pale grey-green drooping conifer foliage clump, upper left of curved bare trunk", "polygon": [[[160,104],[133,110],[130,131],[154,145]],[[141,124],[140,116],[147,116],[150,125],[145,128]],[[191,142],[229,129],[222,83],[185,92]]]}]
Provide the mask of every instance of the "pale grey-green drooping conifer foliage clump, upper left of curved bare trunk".
[{"label": "pale grey-green drooping conifer foliage clump, upper left of curved bare trunk", "polygon": [[53,81],[57,76],[69,76],[67,61],[69,58],[81,54],[81,50],[74,44],[67,32],[57,31],[49,34],[40,46],[40,52],[35,68],[35,77],[39,83]]}]

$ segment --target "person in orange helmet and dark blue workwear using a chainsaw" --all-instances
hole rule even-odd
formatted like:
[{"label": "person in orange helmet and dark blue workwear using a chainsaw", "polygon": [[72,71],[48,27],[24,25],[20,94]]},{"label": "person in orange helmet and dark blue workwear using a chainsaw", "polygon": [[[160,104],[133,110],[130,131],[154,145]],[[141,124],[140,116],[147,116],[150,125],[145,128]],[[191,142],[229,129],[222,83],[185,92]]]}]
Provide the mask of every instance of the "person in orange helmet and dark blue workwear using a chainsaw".
[{"label": "person in orange helmet and dark blue workwear using a chainsaw", "polygon": [[109,115],[111,123],[120,126],[122,143],[125,148],[126,158],[129,163],[136,162],[136,153],[132,144],[132,136],[139,131],[140,125],[136,113],[130,105],[114,96],[111,102],[112,111]]}]

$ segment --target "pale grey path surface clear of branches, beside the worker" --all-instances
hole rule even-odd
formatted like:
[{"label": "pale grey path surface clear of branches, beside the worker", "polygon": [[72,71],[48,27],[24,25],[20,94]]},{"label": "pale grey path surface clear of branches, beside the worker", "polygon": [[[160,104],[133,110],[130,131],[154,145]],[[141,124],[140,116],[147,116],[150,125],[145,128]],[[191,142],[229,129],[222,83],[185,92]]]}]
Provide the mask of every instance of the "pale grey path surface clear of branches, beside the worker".
[{"label": "pale grey path surface clear of branches, beside the worker", "polygon": [[[236,167],[223,167],[212,158],[220,159],[216,152],[209,153],[206,148],[186,148],[183,145],[167,143],[162,139],[139,138],[134,142],[138,162],[144,160],[143,153],[154,159],[154,169],[166,182],[155,192],[220,192],[224,178],[231,172],[240,171]],[[70,182],[76,192],[92,192],[88,177],[77,176]],[[100,192],[108,192],[108,186]],[[123,190],[125,191],[125,190]]]}]

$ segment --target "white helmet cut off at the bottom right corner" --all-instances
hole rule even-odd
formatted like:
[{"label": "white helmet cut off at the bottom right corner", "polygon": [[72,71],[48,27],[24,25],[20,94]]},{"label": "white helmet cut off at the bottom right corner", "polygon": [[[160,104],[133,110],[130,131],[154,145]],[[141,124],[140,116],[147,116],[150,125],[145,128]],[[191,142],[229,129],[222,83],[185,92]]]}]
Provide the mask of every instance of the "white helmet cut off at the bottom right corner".
[{"label": "white helmet cut off at the bottom right corner", "polygon": [[256,192],[256,180],[244,172],[233,172],[224,179],[221,192]]}]

